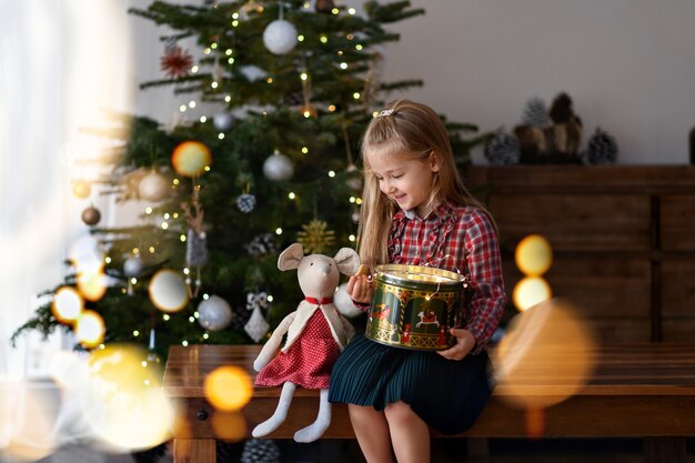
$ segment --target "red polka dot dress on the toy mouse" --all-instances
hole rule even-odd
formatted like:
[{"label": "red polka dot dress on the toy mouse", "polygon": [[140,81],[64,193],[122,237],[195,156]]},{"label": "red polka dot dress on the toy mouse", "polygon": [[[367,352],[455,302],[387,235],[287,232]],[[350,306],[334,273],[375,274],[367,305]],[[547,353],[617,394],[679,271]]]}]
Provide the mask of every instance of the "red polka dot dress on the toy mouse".
[{"label": "red polka dot dress on the toy mouse", "polygon": [[255,385],[279,386],[290,382],[305,389],[328,389],[340,352],[323,311],[316,309],[288,352],[281,351],[259,372]]}]

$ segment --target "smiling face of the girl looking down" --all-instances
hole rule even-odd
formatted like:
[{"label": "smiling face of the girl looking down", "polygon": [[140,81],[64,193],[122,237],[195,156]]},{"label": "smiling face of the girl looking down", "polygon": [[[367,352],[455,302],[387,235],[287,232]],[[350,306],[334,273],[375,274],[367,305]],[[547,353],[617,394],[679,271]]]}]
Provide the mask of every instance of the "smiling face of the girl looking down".
[{"label": "smiling face of the girl looking down", "polygon": [[370,150],[366,160],[379,180],[382,193],[403,210],[414,210],[420,218],[430,213],[434,173],[440,170],[436,154],[421,161],[389,149]]}]

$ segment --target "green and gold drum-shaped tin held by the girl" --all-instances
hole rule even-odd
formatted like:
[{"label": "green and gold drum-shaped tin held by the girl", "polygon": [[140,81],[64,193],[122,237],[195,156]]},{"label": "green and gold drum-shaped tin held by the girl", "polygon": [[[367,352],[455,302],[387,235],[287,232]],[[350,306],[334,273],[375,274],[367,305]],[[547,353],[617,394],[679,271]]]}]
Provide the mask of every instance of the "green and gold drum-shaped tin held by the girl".
[{"label": "green and gold drum-shaped tin held by the girl", "polygon": [[374,278],[365,335],[404,349],[440,351],[461,325],[464,275],[420,265],[380,265]]}]

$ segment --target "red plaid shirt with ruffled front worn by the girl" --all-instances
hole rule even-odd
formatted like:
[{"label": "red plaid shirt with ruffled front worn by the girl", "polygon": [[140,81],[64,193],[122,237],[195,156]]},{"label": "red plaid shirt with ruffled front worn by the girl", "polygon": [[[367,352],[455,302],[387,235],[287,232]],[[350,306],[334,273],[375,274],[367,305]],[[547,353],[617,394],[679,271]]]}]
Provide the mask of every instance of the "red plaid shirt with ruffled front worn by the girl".
[{"label": "red plaid shirt with ruffled front worn by the girl", "polygon": [[472,353],[485,349],[506,303],[500,246],[487,215],[474,207],[449,203],[439,204],[425,219],[401,210],[393,218],[389,260],[467,274],[472,295],[463,308],[464,328],[477,341]]}]

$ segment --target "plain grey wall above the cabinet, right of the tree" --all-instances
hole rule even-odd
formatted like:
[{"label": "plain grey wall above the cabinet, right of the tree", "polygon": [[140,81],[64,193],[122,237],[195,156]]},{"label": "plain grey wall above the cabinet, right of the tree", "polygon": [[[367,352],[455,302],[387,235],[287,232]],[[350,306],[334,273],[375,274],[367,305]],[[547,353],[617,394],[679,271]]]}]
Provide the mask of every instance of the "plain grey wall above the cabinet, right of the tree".
[{"label": "plain grey wall above the cabinet, right of the tree", "polygon": [[[584,141],[614,134],[624,164],[684,164],[695,125],[692,0],[412,0],[426,14],[394,26],[387,79],[482,130],[521,122],[528,98],[574,100]],[[484,163],[479,153],[476,163]]]}]

